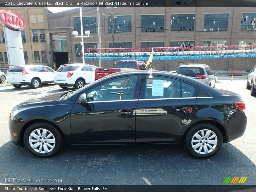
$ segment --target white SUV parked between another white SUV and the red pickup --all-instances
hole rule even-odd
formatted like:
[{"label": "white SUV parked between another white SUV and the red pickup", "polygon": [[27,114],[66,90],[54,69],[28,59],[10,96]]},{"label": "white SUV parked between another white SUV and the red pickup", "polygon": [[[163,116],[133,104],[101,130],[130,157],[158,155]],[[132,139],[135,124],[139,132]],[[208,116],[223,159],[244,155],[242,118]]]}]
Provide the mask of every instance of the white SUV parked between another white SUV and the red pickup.
[{"label": "white SUV parked between another white SUV and the red pickup", "polygon": [[75,87],[81,89],[85,84],[94,81],[94,71],[97,67],[88,64],[65,64],[61,65],[54,78],[54,83],[62,89]]}]

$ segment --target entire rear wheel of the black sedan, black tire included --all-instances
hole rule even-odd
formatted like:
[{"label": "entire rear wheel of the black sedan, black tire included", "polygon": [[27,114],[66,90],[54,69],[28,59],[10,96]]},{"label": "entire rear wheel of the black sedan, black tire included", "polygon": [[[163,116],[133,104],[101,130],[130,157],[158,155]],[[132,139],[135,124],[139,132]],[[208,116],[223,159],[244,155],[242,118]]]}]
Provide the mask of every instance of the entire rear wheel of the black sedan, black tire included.
[{"label": "entire rear wheel of the black sedan, black tire included", "polygon": [[[207,131],[209,131],[210,134],[207,138],[203,138],[204,140],[200,138],[200,140],[198,140],[197,142],[196,133],[199,132],[198,137],[199,136],[202,137],[201,131],[204,132],[204,136],[206,136]],[[211,139],[208,139],[208,138],[211,138]],[[192,139],[196,140],[196,142],[192,142]],[[208,143],[208,141],[211,141],[211,143],[210,142]],[[217,144],[212,144],[212,142],[217,142]],[[189,154],[197,158],[208,158],[215,155],[220,150],[222,146],[222,142],[223,142],[222,134],[220,130],[213,124],[206,124],[206,123],[195,124],[191,127],[191,129],[186,133],[186,136],[185,136],[185,145]],[[192,143],[194,144],[195,150],[192,147]],[[211,148],[209,146],[211,146]],[[200,148],[201,148],[201,151],[200,151]],[[204,150],[204,148],[206,148],[207,151]],[[198,152],[196,152],[196,150]],[[208,152],[208,150],[210,152]],[[207,153],[203,154],[205,152]]]}]

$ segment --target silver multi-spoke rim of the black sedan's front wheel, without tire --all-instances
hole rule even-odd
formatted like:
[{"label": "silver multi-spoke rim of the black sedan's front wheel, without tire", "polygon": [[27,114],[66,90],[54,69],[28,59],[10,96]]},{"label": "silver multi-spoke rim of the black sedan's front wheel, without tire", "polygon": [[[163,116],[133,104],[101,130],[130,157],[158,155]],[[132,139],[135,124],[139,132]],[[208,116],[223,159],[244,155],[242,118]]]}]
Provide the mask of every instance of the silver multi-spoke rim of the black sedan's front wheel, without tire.
[{"label": "silver multi-spoke rim of the black sedan's front wheel, without tire", "polygon": [[53,150],[55,144],[54,135],[47,129],[38,128],[29,135],[29,145],[37,153],[49,153]]}]

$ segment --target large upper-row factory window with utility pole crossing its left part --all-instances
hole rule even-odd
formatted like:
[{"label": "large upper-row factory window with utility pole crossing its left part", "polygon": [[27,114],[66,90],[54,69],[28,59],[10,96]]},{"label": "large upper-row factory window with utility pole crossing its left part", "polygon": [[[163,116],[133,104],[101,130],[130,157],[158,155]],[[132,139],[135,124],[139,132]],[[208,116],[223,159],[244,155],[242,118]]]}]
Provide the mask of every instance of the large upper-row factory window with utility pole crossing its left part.
[{"label": "large upper-row factory window with utility pole crossing its left part", "polygon": [[[114,33],[132,32],[132,16],[113,16]],[[112,32],[112,20],[108,17],[108,33]]]}]

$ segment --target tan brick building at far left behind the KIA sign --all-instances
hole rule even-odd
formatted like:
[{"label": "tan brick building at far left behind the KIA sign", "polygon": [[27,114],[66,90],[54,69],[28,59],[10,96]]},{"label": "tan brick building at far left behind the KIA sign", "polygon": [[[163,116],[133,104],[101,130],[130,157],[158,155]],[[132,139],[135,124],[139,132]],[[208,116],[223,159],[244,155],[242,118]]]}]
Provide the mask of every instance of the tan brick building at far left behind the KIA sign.
[{"label": "tan brick building at far left behind the KIA sign", "polygon": [[[17,12],[26,22],[26,28],[21,31],[25,64],[51,66],[47,8],[2,7],[1,10],[6,9]],[[0,68],[9,68],[3,28],[0,29]]]}]

